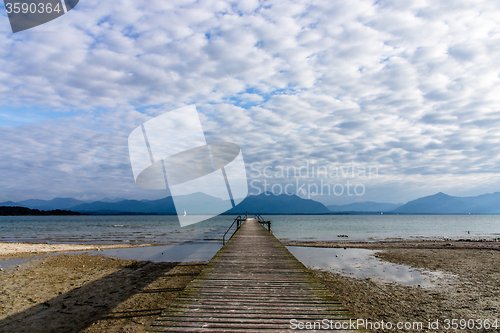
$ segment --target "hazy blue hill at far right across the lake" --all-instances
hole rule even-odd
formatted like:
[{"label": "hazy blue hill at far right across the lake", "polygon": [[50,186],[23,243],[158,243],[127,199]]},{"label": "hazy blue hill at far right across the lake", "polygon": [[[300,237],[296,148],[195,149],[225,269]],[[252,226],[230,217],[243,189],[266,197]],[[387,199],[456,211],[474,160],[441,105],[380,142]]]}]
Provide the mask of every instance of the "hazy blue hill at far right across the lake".
[{"label": "hazy blue hill at far right across the lake", "polygon": [[454,197],[439,192],[409,201],[392,211],[406,214],[500,214],[500,192]]}]

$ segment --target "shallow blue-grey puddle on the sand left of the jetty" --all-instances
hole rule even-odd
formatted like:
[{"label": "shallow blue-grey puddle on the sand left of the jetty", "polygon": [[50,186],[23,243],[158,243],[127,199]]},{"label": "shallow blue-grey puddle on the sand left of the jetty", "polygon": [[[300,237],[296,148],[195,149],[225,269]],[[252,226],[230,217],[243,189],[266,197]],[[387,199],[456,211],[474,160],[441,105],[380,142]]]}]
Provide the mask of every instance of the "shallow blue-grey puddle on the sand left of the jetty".
[{"label": "shallow blue-grey puddle on the sand left of the jetty", "polygon": [[188,262],[205,261],[208,262],[220,250],[222,244],[219,243],[182,243],[175,245],[129,247],[122,249],[108,249],[101,251],[76,251],[58,252],[31,258],[17,258],[0,261],[0,266],[4,270],[16,268],[33,259],[61,254],[78,255],[82,253],[100,254],[108,257],[129,260],[149,260],[154,262]]}]

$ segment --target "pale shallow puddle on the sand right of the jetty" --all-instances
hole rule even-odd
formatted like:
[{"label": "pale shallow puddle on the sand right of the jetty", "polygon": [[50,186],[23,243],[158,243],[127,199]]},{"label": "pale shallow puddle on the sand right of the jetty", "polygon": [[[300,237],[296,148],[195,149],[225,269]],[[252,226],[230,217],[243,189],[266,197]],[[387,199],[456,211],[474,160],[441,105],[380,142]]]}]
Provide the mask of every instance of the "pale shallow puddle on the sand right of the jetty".
[{"label": "pale shallow puddle on the sand right of the jetty", "polygon": [[287,249],[305,266],[339,273],[344,276],[386,283],[434,287],[442,279],[453,276],[437,271],[425,271],[393,264],[375,258],[377,251],[366,249],[333,249],[287,246]]}]

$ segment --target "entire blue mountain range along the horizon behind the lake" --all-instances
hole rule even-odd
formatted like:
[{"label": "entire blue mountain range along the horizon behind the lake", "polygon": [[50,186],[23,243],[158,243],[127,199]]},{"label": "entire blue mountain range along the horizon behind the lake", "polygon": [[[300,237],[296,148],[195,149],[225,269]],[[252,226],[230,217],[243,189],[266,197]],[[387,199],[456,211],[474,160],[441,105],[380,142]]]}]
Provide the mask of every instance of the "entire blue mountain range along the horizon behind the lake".
[{"label": "entire blue mountain range along the horizon behind the lake", "polygon": [[[193,193],[176,197],[179,202],[196,202],[197,207],[189,214],[211,214],[221,211],[228,203],[203,193]],[[158,200],[127,200],[104,198],[99,201],[85,202],[72,198],[52,200],[30,199],[19,202],[3,202],[0,206],[21,206],[30,209],[72,210],[86,214],[176,214],[171,197]],[[192,205],[190,205],[192,206]],[[329,214],[329,213],[380,213],[384,214],[500,214],[500,192],[475,197],[455,197],[444,193],[422,197],[406,204],[377,203],[372,201],[348,205],[324,206],[310,199],[296,195],[261,193],[248,196],[239,205],[225,214]]]}]

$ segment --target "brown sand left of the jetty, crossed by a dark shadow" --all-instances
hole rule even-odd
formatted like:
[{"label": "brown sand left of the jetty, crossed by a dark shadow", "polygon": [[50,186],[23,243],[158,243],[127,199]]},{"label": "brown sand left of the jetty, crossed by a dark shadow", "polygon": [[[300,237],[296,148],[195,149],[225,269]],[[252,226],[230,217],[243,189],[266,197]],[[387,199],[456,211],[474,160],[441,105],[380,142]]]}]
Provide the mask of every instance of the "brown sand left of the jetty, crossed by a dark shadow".
[{"label": "brown sand left of the jetty, crossed by a dark shadow", "polygon": [[32,259],[0,272],[0,332],[144,332],[204,266],[90,254]]}]

